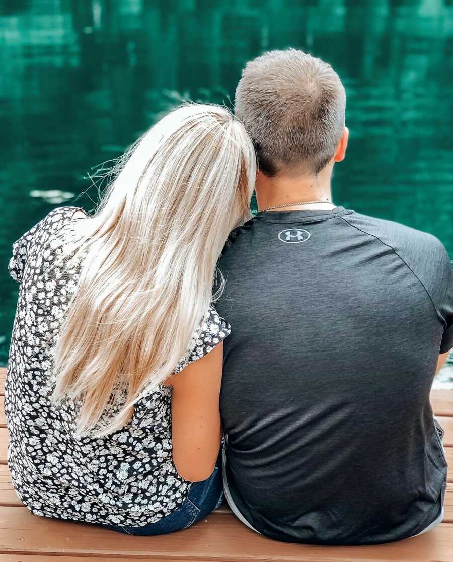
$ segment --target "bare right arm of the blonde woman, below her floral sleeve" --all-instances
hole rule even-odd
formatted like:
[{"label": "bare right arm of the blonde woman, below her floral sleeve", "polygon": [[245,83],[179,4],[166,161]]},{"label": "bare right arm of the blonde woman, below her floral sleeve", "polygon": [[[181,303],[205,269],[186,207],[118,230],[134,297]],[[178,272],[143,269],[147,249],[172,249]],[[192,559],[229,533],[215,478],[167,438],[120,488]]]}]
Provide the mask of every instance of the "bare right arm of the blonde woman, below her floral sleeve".
[{"label": "bare right arm of the blonde woman, below her floral sleeve", "polygon": [[222,366],[223,343],[219,343],[166,381],[173,385],[173,462],[179,475],[191,482],[209,478],[219,454]]}]

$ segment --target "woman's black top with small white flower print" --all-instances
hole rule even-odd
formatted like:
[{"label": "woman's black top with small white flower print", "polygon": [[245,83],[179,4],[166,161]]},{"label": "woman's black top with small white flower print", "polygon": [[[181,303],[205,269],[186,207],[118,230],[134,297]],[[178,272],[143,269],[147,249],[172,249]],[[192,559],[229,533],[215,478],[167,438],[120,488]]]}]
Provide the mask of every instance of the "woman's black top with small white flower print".
[{"label": "woman's black top with small white flower print", "polygon": [[[102,438],[76,438],[76,405],[56,408],[50,400],[53,343],[80,266],[65,252],[77,210],[55,209],[13,245],[9,270],[20,289],[5,388],[8,465],[17,494],[34,514],[145,525],[174,510],[191,487],[171,457],[171,387],[144,397],[124,428]],[[175,372],[229,332],[211,307]]]}]

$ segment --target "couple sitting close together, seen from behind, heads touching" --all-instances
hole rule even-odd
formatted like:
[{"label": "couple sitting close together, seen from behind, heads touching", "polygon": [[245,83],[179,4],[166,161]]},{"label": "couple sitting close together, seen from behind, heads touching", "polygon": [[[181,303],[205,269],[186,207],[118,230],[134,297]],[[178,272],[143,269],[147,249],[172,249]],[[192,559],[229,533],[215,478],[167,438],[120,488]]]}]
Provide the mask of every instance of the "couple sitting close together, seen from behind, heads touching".
[{"label": "couple sitting close together, seen from behind, heads touching", "polygon": [[253,531],[324,545],[441,521],[451,263],[332,203],[347,139],[332,67],[268,52],[234,116],[179,107],[93,215],[55,209],[13,245],[8,464],[31,513],[155,535],[225,493]]}]

